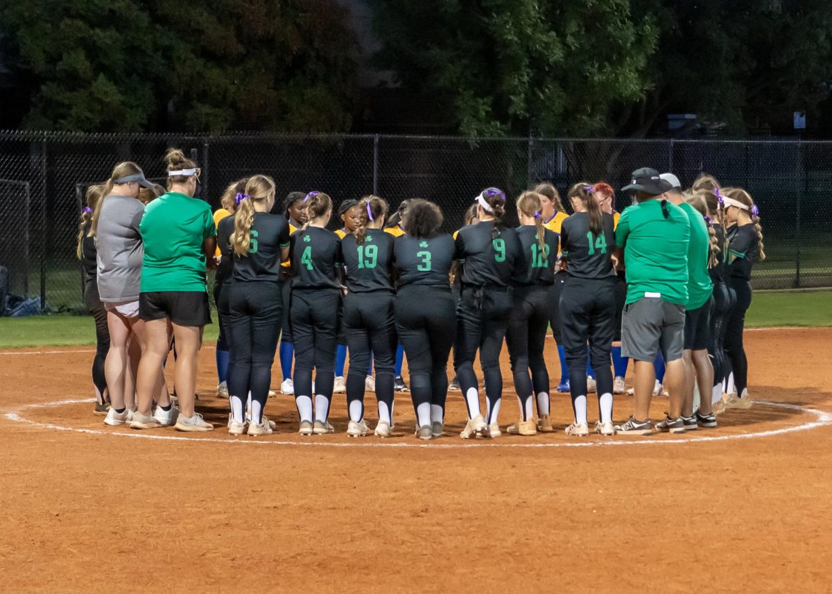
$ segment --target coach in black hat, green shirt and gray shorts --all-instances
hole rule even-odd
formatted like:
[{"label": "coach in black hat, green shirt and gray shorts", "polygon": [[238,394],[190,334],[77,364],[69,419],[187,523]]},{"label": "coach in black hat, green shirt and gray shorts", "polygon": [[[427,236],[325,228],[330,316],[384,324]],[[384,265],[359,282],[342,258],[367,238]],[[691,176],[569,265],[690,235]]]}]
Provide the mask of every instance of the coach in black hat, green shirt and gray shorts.
[{"label": "coach in black hat, green shirt and gray shorts", "polygon": [[632,183],[622,188],[636,198],[636,204],[622,212],[616,228],[617,255],[619,260],[624,259],[627,281],[622,355],[636,362],[636,411],[617,427],[621,433],[652,433],[650,400],[656,383],[653,361],[658,349],[665,358],[664,383],[670,393],[670,411],[656,429],[685,431],[681,420],[685,379],[682,349],[691,227],[685,211],[664,196],[670,189],[671,184],[650,168],[633,171]]}]

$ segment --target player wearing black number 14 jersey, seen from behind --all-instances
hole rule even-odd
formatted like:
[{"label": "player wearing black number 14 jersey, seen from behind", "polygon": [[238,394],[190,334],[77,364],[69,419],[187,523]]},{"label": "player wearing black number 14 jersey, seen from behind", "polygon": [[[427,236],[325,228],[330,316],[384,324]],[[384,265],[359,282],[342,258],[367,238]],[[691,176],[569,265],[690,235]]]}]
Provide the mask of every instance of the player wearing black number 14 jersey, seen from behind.
[{"label": "player wearing black number 14 jersey, seen from behind", "polygon": [[561,225],[561,250],[567,262],[567,282],[561,295],[563,344],[569,365],[574,422],[567,435],[586,436],[587,341],[597,374],[599,420],[595,432],[615,435],[612,426],[610,351],[615,334],[616,247],[612,215],[603,212],[592,186],[576,184],[567,195],[575,214]]}]

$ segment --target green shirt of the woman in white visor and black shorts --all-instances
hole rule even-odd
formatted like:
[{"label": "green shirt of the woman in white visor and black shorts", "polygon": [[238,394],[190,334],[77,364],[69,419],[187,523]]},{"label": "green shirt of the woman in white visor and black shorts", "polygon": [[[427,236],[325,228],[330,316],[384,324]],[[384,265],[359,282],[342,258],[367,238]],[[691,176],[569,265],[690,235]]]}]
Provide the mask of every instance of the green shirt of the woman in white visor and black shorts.
[{"label": "green shirt of the woman in white visor and black shorts", "polygon": [[216,225],[205,200],[168,192],[147,205],[139,232],[145,244],[142,293],[206,290],[202,244],[216,235]]}]

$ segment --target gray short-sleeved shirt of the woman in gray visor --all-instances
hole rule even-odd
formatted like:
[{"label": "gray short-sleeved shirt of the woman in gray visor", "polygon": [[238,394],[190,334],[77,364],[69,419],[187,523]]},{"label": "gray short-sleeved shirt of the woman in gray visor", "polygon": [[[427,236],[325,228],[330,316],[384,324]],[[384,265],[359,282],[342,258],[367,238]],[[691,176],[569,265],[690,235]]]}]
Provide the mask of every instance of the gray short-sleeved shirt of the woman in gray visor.
[{"label": "gray short-sleeved shirt of the woman in gray visor", "polygon": [[139,223],[145,205],[129,196],[103,199],[96,230],[98,293],[103,302],[137,301],[145,255]]}]

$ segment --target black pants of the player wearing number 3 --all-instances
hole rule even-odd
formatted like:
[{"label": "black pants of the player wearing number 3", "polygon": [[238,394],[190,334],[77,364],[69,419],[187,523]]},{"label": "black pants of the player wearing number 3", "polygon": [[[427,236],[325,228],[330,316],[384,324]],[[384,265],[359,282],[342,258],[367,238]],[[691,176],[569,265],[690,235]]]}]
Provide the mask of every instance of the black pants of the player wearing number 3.
[{"label": "black pants of the player wearing number 3", "polygon": [[410,395],[417,415],[419,404],[430,403],[442,408],[444,418],[448,354],[457,327],[453,303],[445,287],[404,285],[396,295],[396,330],[408,356]]}]

